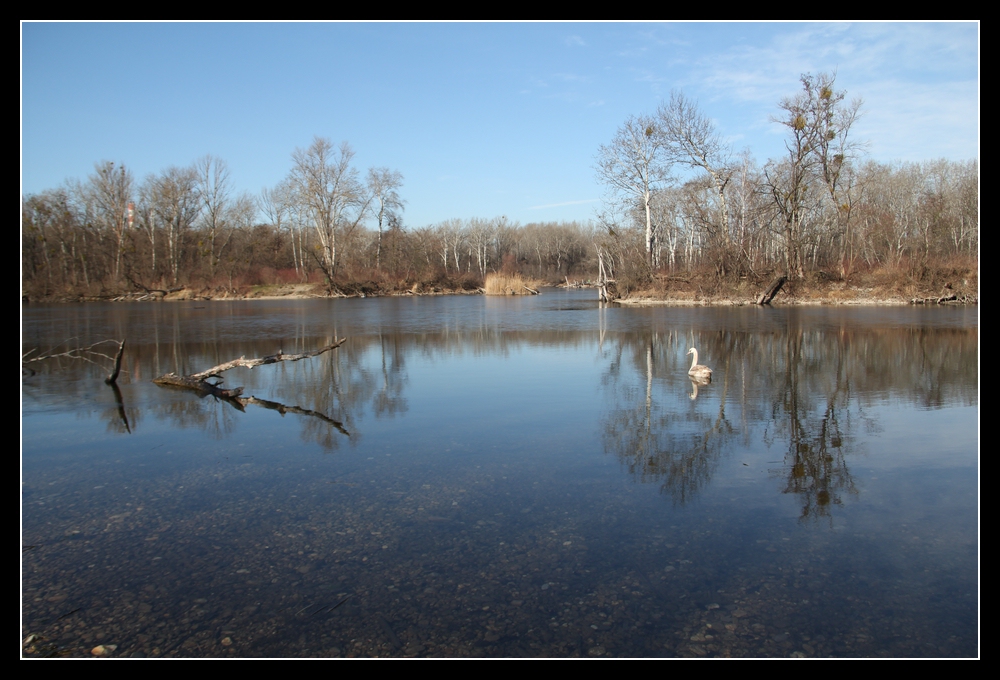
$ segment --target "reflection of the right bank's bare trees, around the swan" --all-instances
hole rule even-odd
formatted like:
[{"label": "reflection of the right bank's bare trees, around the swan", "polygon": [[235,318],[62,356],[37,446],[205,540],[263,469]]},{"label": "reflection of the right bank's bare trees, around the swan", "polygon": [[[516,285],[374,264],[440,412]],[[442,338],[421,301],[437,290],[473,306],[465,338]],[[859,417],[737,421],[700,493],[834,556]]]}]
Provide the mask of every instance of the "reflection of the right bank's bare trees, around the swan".
[{"label": "reflection of the right bank's bare trees, around the swan", "polygon": [[[783,318],[786,327],[768,333],[617,336],[604,376],[608,453],[683,503],[735,444],[762,440],[786,450],[775,472],[785,479],[783,491],[800,499],[802,517],[830,517],[858,493],[848,463],[857,429],[877,427],[868,404],[890,395],[931,407],[978,399],[974,329],[872,332],[850,321],[817,328],[796,313]],[[678,393],[689,381],[679,357],[695,343],[713,358],[716,380],[692,386],[684,400]],[[735,422],[727,409],[738,413]]]}]

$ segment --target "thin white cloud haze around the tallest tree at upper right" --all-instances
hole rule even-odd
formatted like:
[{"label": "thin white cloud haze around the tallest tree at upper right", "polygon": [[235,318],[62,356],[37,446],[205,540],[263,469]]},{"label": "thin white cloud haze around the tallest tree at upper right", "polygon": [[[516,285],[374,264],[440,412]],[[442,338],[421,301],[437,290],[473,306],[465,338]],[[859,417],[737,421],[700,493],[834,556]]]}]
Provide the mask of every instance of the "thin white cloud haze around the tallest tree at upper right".
[{"label": "thin white cloud haze around the tallest tree at upper right", "polygon": [[[873,156],[968,158],[978,149],[975,24],[738,24],[717,33],[712,46],[692,46],[677,68],[661,71],[647,60],[636,80],[654,94],[669,82],[706,113],[721,114],[728,134],[749,133],[768,146],[783,133],[769,118],[800,91],[801,75],[835,72],[848,100],[864,100],[855,129],[871,140]],[[676,56],[663,52],[661,64]]]}]

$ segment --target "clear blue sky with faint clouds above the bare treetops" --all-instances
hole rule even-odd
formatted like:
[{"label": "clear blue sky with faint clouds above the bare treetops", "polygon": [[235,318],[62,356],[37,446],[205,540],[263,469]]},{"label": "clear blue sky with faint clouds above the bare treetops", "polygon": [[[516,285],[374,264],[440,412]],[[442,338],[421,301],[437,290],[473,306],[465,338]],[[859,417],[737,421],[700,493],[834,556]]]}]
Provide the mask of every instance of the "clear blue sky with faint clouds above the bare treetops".
[{"label": "clear blue sky with faint clouds above the bare treetops", "polygon": [[408,227],[587,220],[628,116],[681,90],[763,163],[778,101],[822,71],[864,100],[872,158],[978,158],[977,23],[24,22],[21,190],[213,154],[256,194],[318,135],[403,173]]}]

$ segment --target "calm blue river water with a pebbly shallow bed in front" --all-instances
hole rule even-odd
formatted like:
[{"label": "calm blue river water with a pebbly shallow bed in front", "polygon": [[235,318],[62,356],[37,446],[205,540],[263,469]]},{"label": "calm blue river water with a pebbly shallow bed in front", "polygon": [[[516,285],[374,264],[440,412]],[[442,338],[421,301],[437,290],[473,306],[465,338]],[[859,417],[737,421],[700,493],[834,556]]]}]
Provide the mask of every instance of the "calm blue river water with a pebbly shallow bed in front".
[{"label": "calm blue river water with a pebbly shallow bed in front", "polygon": [[23,308],[25,654],[979,655],[977,309],[593,297]]}]

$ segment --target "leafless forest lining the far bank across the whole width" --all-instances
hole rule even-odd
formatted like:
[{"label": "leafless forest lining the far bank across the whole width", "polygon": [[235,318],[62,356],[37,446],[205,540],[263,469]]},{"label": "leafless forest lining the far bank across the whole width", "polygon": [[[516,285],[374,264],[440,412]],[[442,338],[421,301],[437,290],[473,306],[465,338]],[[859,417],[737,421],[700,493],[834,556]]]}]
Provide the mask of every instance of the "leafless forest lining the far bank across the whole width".
[{"label": "leafless forest lining the far bank across the whole width", "polygon": [[362,173],[349,144],[321,137],[256,195],[212,156],[145,178],[100,161],[84,179],[22,198],[22,296],[469,289],[500,271],[603,277],[622,296],[758,286],[775,274],[928,290],[972,277],[975,288],[978,161],[871,160],[854,132],[862,102],[833,76],[804,75],[790,91],[773,117],[786,152],[764,163],[728,144],[683,93],[629,117],[596,150],[607,192],[585,224],[475,217],[404,227],[403,176]]}]

